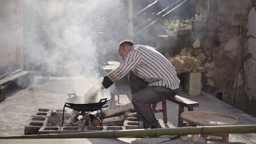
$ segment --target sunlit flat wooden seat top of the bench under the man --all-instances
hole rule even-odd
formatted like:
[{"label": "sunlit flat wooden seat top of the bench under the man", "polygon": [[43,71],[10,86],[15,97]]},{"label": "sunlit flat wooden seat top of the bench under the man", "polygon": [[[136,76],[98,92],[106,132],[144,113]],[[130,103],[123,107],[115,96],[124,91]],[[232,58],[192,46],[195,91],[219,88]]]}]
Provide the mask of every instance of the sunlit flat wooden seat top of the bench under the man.
[{"label": "sunlit flat wooden seat top of the bench under the man", "polygon": [[199,106],[198,102],[192,101],[192,100],[187,99],[187,98],[183,98],[179,95],[175,95],[175,97],[172,98],[172,99],[169,99],[169,101],[178,103],[179,105],[182,105],[182,106],[185,106],[185,107],[198,107]]}]

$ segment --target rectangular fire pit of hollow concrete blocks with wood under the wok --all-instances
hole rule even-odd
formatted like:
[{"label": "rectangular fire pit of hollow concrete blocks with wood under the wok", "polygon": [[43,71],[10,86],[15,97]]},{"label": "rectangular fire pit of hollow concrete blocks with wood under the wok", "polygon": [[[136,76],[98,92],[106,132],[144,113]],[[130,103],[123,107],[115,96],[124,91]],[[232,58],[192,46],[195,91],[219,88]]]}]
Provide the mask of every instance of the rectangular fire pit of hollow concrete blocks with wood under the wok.
[{"label": "rectangular fire pit of hollow concrete blocks with wood under the wok", "polygon": [[[127,111],[115,117],[102,118],[99,110],[81,112],[65,110],[36,109],[25,126],[25,134],[78,133],[99,130],[126,130],[143,128],[137,113]],[[102,122],[102,126],[101,126]]]}]

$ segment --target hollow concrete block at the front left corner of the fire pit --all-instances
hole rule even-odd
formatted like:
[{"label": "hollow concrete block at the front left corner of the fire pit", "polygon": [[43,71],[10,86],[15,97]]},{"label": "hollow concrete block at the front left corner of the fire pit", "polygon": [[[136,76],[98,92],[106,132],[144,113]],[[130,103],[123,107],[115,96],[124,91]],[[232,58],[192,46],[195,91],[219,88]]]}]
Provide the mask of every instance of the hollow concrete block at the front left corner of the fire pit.
[{"label": "hollow concrete block at the front left corner of the fire pit", "polygon": [[47,117],[31,117],[25,125],[24,134],[38,134],[38,130],[41,129],[42,126],[46,126],[48,119]]}]

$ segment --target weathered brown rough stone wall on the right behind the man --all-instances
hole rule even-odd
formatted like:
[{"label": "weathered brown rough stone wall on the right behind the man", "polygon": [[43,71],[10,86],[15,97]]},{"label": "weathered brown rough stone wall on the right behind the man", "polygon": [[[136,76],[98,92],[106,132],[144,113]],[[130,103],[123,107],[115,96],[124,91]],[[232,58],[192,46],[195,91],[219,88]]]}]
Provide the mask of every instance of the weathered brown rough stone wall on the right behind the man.
[{"label": "weathered brown rough stone wall on the right behind the man", "polygon": [[[246,61],[243,53],[246,47],[246,17],[251,1],[197,0],[195,3],[196,9],[202,9],[204,18],[193,22],[193,30],[177,30],[177,36],[169,38],[173,48],[162,49],[161,52],[170,56],[190,55],[201,61],[201,66],[206,69],[202,75],[202,90],[215,97],[221,94],[222,101],[256,116],[253,107],[256,104],[255,96],[244,93],[248,86],[244,85],[246,75],[243,73],[243,63]],[[253,58],[250,61],[255,63]],[[251,69],[246,81],[254,81],[251,82],[254,90],[250,94],[255,95],[255,65]]]}]

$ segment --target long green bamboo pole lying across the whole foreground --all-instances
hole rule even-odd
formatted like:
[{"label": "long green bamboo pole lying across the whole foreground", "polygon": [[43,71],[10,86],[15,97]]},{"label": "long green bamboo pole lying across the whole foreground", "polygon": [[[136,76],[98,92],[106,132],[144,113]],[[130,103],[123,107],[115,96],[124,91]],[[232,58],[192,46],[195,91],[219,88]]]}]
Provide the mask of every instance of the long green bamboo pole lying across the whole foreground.
[{"label": "long green bamboo pole lying across the whole foreground", "polygon": [[256,125],[231,126],[198,126],[162,129],[134,129],[109,130],[66,134],[41,134],[0,137],[0,139],[19,138],[121,138],[121,137],[158,137],[161,135],[188,135],[188,134],[229,134],[229,133],[256,133]]}]

